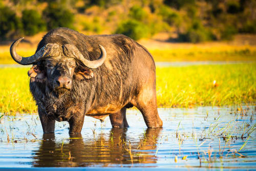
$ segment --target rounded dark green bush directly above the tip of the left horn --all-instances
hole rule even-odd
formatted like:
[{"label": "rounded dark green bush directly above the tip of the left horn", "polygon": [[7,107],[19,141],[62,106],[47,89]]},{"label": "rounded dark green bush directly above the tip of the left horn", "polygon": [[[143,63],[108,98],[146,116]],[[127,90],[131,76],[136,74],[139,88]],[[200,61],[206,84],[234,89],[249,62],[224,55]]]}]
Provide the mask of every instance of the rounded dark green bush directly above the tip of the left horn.
[{"label": "rounded dark green bush directly above the tip of the left horn", "polygon": [[36,10],[24,10],[22,12],[22,23],[25,35],[34,35],[46,29],[45,21]]}]

